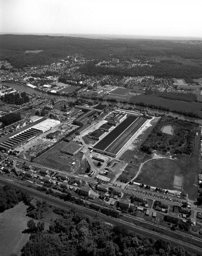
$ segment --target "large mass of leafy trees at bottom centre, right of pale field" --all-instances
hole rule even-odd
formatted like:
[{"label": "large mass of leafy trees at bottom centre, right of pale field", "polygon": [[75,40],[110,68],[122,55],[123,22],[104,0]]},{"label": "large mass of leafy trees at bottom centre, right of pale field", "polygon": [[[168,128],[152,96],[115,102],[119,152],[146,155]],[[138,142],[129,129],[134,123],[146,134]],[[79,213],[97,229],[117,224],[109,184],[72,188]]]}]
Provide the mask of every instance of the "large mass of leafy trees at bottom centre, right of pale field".
[{"label": "large mass of leafy trees at bottom centre, right of pale field", "polygon": [[22,256],[188,256],[182,247],[129,233],[124,225],[111,227],[78,210],[55,209],[61,217],[48,231],[33,233]]}]

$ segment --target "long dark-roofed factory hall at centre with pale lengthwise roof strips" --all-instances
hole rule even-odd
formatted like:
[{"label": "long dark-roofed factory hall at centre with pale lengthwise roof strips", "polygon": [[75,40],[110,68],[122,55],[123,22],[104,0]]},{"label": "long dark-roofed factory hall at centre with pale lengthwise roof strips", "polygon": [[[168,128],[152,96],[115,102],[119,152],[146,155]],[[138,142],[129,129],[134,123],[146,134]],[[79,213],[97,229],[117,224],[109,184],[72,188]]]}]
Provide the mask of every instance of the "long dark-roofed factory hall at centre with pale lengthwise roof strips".
[{"label": "long dark-roofed factory hall at centre with pale lengthwise roof strips", "polygon": [[146,125],[147,121],[146,118],[129,115],[114,130],[101,139],[93,147],[93,150],[111,157],[117,157],[123,147]]}]

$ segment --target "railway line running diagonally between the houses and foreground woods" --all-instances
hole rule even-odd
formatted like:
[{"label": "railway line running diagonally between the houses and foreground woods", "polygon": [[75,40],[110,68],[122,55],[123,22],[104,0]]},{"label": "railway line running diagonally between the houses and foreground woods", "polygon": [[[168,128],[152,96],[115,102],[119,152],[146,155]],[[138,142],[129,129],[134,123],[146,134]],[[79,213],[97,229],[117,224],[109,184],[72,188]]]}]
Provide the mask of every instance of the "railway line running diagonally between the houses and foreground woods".
[{"label": "railway line running diagonally between the houses and foreground woods", "polygon": [[163,239],[165,241],[169,241],[173,246],[183,246],[187,251],[189,251],[191,253],[195,253],[195,254],[198,254],[198,255],[201,254],[201,250],[202,249],[197,247],[197,246],[193,246],[193,245],[190,245],[188,243],[179,241],[177,239],[168,237],[166,235],[162,235],[162,234],[156,233],[155,231],[150,231],[150,230],[144,229],[143,227],[138,227],[138,226],[136,226],[136,225],[134,225],[132,223],[128,223],[128,222],[125,222],[123,220],[115,219],[115,218],[112,218],[110,216],[106,216],[104,214],[97,213],[94,210],[85,208],[83,206],[79,206],[77,204],[73,204],[73,203],[70,203],[70,202],[62,201],[62,200],[60,200],[60,199],[58,199],[56,197],[52,197],[50,195],[46,195],[44,193],[41,193],[41,192],[39,192],[37,190],[34,190],[34,189],[31,189],[29,187],[23,188],[22,185],[19,185],[19,184],[13,182],[13,181],[0,180],[0,184],[3,184],[3,185],[9,184],[9,185],[12,185],[12,187],[15,187],[15,188],[18,188],[18,189],[19,188],[20,189],[24,189],[31,196],[39,197],[40,199],[47,201],[47,203],[53,204],[55,206],[62,207],[62,208],[65,208],[65,209],[74,208],[74,209],[82,210],[82,212],[84,212],[84,214],[90,216],[91,218],[96,218],[98,216],[104,222],[106,222],[108,224],[111,224],[111,225],[124,224],[127,227],[127,229],[129,231],[133,232],[133,233],[141,234],[141,235],[144,235],[146,237],[153,238],[153,239]]}]

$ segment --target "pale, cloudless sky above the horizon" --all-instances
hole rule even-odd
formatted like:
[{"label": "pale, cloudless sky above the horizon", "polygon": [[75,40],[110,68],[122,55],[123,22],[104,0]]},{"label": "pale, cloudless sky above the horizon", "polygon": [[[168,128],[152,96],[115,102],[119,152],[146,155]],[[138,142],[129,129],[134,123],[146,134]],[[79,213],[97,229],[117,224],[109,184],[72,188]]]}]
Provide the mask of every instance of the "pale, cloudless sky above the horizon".
[{"label": "pale, cloudless sky above the horizon", "polygon": [[0,33],[202,37],[202,0],[0,0]]}]

